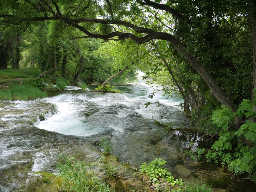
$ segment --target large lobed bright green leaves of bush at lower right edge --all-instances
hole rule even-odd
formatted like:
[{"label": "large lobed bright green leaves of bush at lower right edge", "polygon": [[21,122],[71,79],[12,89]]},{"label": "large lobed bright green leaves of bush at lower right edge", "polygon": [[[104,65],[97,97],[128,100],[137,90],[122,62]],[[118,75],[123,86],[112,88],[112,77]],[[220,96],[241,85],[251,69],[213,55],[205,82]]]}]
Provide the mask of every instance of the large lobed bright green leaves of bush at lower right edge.
[{"label": "large lobed bright green leaves of bush at lower right edge", "polygon": [[[250,118],[256,117],[253,110],[255,101],[243,99],[236,112],[222,105],[221,109],[213,112],[212,120],[219,131],[218,140],[212,145],[212,150],[206,155],[208,161],[227,165],[230,172],[235,174],[247,173],[256,181],[256,123]],[[245,121],[236,127],[235,119]]]}]

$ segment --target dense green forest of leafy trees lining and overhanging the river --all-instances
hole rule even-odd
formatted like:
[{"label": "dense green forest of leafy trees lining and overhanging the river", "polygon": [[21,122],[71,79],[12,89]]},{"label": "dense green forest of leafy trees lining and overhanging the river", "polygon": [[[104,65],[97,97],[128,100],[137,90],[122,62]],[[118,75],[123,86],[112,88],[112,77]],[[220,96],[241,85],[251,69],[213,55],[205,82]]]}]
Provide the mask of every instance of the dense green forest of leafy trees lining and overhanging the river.
[{"label": "dense green forest of leafy trees lining and overhanging the river", "polygon": [[256,181],[256,0],[0,0],[0,86],[28,69],[42,90],[142,71],[215,138],[207,161]]}]

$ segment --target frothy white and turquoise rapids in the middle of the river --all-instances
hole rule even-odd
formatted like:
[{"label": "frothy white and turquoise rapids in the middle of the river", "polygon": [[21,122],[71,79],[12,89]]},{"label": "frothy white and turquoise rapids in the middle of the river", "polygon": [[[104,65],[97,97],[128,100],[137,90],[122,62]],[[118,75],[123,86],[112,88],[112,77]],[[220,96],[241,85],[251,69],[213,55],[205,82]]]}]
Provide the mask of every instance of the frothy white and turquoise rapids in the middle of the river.
[{"label": "frothy white and turquoise rapids in the middle of the river", "polygon": [[[91,136],[108,130],[122,133],[131,126],[130,117],[153,118],[161,123],[172,122],[176,126],[184,123],[184,117],[177,107],[179,99],[166,100],[159,93],[152,101],[147,98],[150,88],[143,85],[119,88],[124,90],[123,94],[84,91],[46,98],[47,102],[57,106],[58,113],[36,126],[66,135]],[[154,104],[156,100],[160,102],[159,107]],[[145,108],[143,105],[148,101],[153,104]]]}]

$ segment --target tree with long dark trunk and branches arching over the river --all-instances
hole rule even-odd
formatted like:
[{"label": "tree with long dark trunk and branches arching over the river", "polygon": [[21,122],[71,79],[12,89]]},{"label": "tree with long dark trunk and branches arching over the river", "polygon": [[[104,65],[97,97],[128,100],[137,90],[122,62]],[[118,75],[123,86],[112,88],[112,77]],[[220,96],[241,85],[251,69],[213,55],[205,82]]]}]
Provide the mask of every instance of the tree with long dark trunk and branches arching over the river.
[{"label": "tree with long dark trunk and branches arching over the river", "polygon": [[[58,20],[65,23],[67,27],[71,26],[82,31],[85,34],[84,38],[103,39],[105,41],[131,39],[137,44],[143,44],[151,40],[167,41],[199,73],[215,98],[222,104],[234,108],[232,101],[224,90],[216,83],[212,75],[205,70],[200,60],[191,53],[191,48],[182,43],[183,37],[174,36],[175,34],[172,31],[174,22],[190,21],[190,23],[193,23],[191,18],[177,11],[184,2],[168,1],[160,3],[160,1],[150,0],[138,2],[118,0],[118,2],[106,1],[105,4],[100,4],[97,1],[81,1],[79,5],[76,3],[70,5],[66,4],[65,1],[11,1],[8,2],[10,4],[6,3],[5,6],[13,5],[11,6],[12,9],[16,9],[16,12],[13,13],[17,13],[18,10],[19,14],[8,14],[2,9],[1,23],[2,25],[20,25],[33,21]],[[195,2],[192,1],[192,3]],[[218,3],[215,3],[215,6],[223,6],[222,1]],[[226,6],[228,3],[225,3],[223,7],[228,7]],[[130,7],[130,9],[126,10],[127,7]],[[25,8],[29,11],[25,12]],[[203,7],[198,8],[203,9]],[[207,14],[211,15],[211,10]],[[100,19],[97,17],[100,17]]]}]

